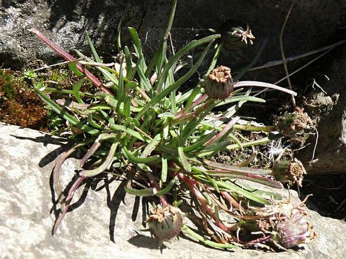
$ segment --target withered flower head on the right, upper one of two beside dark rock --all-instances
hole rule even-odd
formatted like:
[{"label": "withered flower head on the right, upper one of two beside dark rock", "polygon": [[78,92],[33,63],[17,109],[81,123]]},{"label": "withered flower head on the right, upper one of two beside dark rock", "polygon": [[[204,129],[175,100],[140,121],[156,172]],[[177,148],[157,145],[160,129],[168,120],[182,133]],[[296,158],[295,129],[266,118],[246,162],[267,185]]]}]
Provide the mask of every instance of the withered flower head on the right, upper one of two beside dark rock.
[{"label": "withered flower head on the right, upper one of two beside dark rock", "polygon": [[293,136],[296,133],[304,132],[313,126],[312,120],[304,109],[295,108],[295,111],[282,116],[278,121],[280,133],[286,137]]}]

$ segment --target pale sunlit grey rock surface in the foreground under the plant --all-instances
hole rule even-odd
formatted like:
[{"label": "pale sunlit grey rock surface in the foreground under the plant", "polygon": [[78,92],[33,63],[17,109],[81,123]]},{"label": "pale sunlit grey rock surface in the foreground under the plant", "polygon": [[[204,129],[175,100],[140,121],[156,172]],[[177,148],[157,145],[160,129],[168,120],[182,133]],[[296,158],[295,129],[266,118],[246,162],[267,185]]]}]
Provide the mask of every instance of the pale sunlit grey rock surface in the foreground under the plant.
[{"label": "pale sunlit grey rock surface in the foreground under the plant", "polygon": [[[46,133],[0,124],[0,258],[344,258],[346,223],[313,211],[319,233],[299,251],[222,251],[185,238],[158,243],[143,229],[140,200],[125,195],[121,183],[95,179],[79,188],[81,198],[65,217],[56,236],[52,210],[51,172],[66,140]],[[66,183],[78,167],[64,164]],[[120,186],[120,187],[119,187]],[[77,200],[76,200],[77,201]],[[139,205],[138,205],[139,203]],[[136,213],[137,211],[137,213]]]}]

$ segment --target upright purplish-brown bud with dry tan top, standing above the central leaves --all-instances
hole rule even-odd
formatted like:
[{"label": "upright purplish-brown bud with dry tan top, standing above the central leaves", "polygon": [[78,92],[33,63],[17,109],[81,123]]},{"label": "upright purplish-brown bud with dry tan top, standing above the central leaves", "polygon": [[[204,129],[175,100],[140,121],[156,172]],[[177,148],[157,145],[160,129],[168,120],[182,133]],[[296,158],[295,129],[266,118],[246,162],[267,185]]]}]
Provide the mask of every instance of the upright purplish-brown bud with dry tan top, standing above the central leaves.
[{"label": "upright purplish-brown bud with dry tan top, standing above the central leaves", "polygon": [[226,99],[231,95],[233,87],[231,70],[225,66],[213,69],[204,80],[205,93],[214,99]]}]

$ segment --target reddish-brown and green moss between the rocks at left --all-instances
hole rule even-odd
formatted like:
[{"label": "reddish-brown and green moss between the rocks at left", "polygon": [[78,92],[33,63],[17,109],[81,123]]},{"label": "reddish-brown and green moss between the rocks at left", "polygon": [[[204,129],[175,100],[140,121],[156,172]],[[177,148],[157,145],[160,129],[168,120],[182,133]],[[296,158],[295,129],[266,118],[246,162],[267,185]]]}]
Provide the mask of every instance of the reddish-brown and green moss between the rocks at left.
[{"label": "reddish-brown and green moss between the rocks at left", "polygon": [[[23,73],[1,69],[0,121],[59,134],[66,130],[66,125],[33,91],[32,84],[37,81],[66,89],[72,88],[76,78],[71,71],[62,68],[44,73],[33,69],[26,69]],[[59,98],[59,94],[54,95],[57,95],[54,98]]]}]

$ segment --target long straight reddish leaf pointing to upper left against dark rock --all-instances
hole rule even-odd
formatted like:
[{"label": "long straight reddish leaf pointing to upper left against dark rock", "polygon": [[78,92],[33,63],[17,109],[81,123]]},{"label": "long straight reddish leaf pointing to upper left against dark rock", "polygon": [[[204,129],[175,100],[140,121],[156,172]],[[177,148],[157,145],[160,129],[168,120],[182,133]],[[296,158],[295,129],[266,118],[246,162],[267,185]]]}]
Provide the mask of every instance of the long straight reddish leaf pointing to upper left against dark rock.
[{"label": "long straight reddish leaf pointing to upper left against dark rock", "polygon": [[[30,32],[33,32],[36,34],[36,36],[42,40],[44,43],[46,43],[48,46],[50,46],[54,51],[56,51],[56,53],[58,53],[61,57],[63,57],[64,59],[66,59],[67,61],[73,62],[76,59],[69,54],[65,49],[63,49],[62,47],[58,46],[56,43],[54,43],[52,40],[50,40],[49,38],[47,38],[45,35],[43,35],[39,30],[33,28],[29,30]],[[98,78],[96,76],[94,76],[89,70],[87,70],[86,68],[84,68],[81,64],[77,63],[76,64],[77,69],[84,73],[84,75],[90,79],[90,81],[96,85],[98,88],[100,88],[101,91],[112,94],[112,92],[107,89],[104,84],[98,80]],[[113,95],[113,94],[112,94]]]}]

